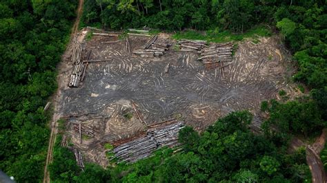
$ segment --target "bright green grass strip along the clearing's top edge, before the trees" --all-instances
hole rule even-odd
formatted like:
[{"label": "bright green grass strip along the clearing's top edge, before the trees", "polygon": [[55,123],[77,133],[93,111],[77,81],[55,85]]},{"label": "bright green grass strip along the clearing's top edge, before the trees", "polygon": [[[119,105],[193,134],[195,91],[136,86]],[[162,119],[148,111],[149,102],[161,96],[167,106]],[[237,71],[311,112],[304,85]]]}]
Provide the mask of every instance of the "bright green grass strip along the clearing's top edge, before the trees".
[{"label": "bright green grass strip along the clearing's top edge, before the trees", "polygon": [[[220,31],[219,29],[208,30],[207,32],[197,32],[195,30],[187,30],[184,32],[177,32],[172,36],[173,39],[193,39],[193,40],[205,40],[209,42],[221,43],[228,41],[242,41],[246,38],[257,39],[258,36],[271,36],[271,31],[264,25],[256,26],[243,34],[234,34],[229,31]],[[259,40],[258,40],[259,41]]]}]

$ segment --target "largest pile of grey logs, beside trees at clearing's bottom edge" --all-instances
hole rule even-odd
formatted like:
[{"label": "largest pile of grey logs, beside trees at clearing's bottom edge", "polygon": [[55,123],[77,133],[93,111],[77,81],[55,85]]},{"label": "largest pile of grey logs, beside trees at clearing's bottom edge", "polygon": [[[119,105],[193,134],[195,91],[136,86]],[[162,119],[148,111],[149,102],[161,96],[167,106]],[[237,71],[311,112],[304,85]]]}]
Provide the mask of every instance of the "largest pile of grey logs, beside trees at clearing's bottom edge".
[{"label": "largest pile of grey logs, beside trees at clearing's bottom edge", "polygon": [[110,152],[114,153],[110,160],[117,159],[118,163],[136,162],[150,156],[153,151],[160,147],[173,147],[178,144],[178,132],[183,127],[183,121],[174,121],[169,125],[153,126],[148,129],[146,136],[119,144],[119,146],[110,150]]}]

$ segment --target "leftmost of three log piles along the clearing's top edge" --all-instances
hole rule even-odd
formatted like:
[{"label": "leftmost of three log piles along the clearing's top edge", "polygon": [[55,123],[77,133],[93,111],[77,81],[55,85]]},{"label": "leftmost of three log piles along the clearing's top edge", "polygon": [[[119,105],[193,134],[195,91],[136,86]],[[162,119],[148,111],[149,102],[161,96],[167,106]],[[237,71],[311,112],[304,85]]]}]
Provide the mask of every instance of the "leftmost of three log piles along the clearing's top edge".
[{"label": "leftmost of three log piles along the clearing's top edge", "polygon": [[142,50],[135,50],[133,53],[142,57],[146,56],[161,56],[168,50],[169,44],[157,43],[158,36],[152,36],[150,41],[144,45]]}]

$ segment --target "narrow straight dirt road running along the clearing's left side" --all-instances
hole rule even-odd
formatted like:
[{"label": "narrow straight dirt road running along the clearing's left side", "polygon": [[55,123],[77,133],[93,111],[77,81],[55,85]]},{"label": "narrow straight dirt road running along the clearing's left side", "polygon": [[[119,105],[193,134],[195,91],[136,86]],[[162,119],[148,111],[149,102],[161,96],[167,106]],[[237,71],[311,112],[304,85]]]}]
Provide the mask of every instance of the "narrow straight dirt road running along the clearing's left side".
[{"label": "narrow straight dirt road running along the clearing's left side", "polygon": [[[83,12],[83,0],[79,0],[79,6],[77,8],[77,18],[75,20],[74,25],[72,26],[72,34],[70,35],[70,40],[72,40],[72,37],[78,32],[79,28],[79,20],[81,19],[81,14]],[[62,67],[59,64],[59,72],[61,71]],[[59,76],[57,76],[57,82],[59,83]],[[50,133],[50,140],[49,140],[49,145],[48,145],[48,154],[46,157],[46,166],[44,166],[44,177],[43,177],[43,183],[50,182],[50,175],[48,171],[48,165],[52,162],[52,153],[53,153],[53,147],[54,147],[54,142],[56,140],[56,135],[57,135],[57,120],[60,118],[59,114],[59,105],[57,104],[57,101],[59,101],[59,97],[61,96],[60,90],[57,89],[57,92],[55,95],[52,97],[52,104],[54,105],[54,114],[52,116],[52,120],[50,122],[50,128],[51,128],[51,133]]]}]

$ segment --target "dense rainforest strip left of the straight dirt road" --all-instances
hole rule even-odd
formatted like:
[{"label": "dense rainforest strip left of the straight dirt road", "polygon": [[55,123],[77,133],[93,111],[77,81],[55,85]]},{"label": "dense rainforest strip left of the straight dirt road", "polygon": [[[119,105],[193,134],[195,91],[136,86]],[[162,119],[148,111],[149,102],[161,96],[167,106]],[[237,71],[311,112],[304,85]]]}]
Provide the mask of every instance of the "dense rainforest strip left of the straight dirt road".
[{"label": "dense rainforest strip left of the straight dirt road", "polygon": [[57,86],[76,0],[0,2],[0,169],[18,182],[41,182]]}]

